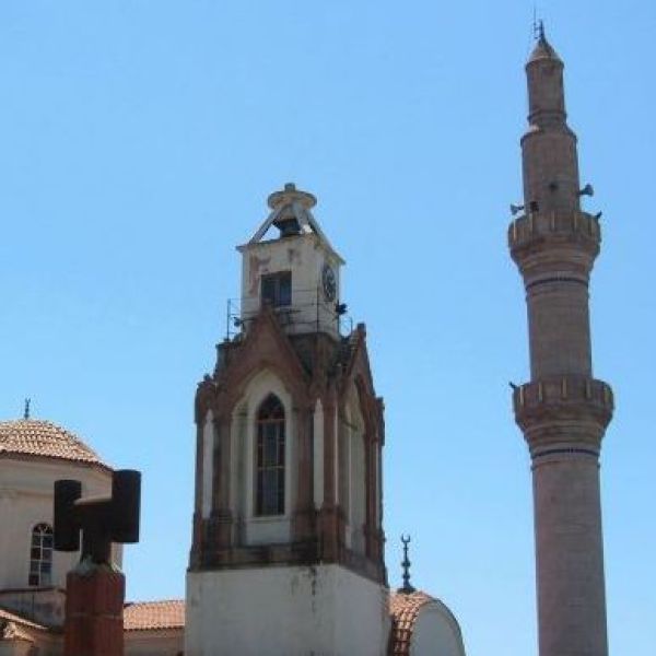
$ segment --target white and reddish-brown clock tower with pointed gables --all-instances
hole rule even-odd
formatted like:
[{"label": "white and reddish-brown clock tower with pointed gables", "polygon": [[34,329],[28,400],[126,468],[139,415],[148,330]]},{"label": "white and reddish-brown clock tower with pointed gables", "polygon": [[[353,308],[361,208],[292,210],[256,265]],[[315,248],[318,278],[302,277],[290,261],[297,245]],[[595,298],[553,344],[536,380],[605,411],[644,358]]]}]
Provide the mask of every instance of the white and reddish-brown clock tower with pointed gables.
[{"label": "white and reddish-brown clock tower with pointed gables", "polygon": [[269,197],[237,248],[237,333],[196,395],[188,656],[386,653],[383,401],[315,204]]}]

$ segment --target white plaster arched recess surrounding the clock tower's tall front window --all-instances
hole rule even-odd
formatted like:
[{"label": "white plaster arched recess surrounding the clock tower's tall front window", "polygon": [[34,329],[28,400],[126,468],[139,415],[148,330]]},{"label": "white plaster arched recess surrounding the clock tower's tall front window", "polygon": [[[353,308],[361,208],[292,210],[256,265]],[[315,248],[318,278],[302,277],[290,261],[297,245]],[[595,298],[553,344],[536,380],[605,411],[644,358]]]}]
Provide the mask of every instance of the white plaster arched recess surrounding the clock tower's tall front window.
[{"label": "white plaster arched recess surrounding the clock tower's tall front window", "polygon": [[[284,407],[285,419],[285,479],[283,515],[255,515],[255,445],[257,411],[261,402],[274,394]],[[286,542],[291,536],[291,511],[295,504],[296,471],[292,467],[296,449],[296,417],[292,397],[282,380],[270,370],[258,373],[248,384],[232,421],[231,480],[232,511],[241,526],[246,544]]]}]

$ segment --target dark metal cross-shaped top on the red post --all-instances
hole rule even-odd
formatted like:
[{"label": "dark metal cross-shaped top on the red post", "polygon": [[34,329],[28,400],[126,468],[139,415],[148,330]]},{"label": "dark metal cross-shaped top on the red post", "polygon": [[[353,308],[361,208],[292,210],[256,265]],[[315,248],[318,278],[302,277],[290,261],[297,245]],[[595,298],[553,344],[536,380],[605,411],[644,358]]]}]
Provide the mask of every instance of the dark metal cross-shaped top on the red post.
[{"label": "dark metal cross-shaped top on the red post", "polygon": [[82,499],[82,483],[55,482],[55,549],[78,551],[81,561],[110,564],[112,542],[139,541],[141,473],[131,469],[112,476],[112,496]]}]

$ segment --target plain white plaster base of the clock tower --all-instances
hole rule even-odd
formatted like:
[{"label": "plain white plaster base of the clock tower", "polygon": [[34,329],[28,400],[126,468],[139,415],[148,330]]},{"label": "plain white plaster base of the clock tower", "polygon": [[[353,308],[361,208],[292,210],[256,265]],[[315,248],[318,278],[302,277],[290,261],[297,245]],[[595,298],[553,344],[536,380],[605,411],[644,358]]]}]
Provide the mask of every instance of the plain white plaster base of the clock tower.
[{"label": "plain white plaster base of the clock tower", "polygon": [[185,656],[384,656],[387,590],[339,565],[187,574]]}]

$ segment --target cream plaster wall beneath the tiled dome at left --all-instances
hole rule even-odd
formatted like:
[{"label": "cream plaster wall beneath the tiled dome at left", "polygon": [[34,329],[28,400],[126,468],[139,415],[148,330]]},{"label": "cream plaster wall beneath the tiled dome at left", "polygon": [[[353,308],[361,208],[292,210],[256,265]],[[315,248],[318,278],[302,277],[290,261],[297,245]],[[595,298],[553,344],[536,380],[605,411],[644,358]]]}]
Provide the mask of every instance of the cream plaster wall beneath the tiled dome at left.
[{"label": "cream plaster wall beneath the tiled dome at left", "polygon": [[[84,495],[109,494],[112,475],[65,460],[0,459],[0,589],[27,587],[32,529],[52,526],[54,485],[58,479],[82,482]],[[52,586],[65,587],[79,553],[54,552]],[[122,550],[116,550],[121,564]]]}]

